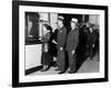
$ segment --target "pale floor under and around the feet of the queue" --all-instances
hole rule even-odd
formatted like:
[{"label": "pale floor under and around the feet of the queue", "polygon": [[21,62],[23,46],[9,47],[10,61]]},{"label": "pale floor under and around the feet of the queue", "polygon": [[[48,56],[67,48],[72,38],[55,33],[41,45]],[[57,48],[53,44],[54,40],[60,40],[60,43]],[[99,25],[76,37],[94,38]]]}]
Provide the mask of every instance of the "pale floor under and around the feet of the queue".
[{"label": "pale floor under and around the feet of the queue", "polygon": [[[81,65],[81,67],[79,68],[79,70],[75,73],[98,73],[99,72],[99,55],[97,54],[93,59],[91,61],[89,57],[87,58],[87,61]],[[34,76],[34,75],[51,75],[51,74],[58,74],[58,72],[54,70],[56,67],[50,67],[49,70],[47,72],[36,72],[30,74],[29,76]],[[68,74],[68,70],[64,73]]]}]

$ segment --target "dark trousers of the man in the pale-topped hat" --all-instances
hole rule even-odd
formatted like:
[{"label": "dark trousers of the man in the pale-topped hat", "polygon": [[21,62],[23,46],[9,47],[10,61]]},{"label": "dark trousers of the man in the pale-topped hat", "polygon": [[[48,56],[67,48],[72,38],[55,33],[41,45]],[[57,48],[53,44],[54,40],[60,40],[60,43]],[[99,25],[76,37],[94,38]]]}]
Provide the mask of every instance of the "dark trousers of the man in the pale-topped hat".
[{"label": "dark trousers of the man in the pale-topped hat", "polygon": [[69,67],[71,73],[75,73],[77,69],[77,54],[72,54],[72,51],[68,51]]}]

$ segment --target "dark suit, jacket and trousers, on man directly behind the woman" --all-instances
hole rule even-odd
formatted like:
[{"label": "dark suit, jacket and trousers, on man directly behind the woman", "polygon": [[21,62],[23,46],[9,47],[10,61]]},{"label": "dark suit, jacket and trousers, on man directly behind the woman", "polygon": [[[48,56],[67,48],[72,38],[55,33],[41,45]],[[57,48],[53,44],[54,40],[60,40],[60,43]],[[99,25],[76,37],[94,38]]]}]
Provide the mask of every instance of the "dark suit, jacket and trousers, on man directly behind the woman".
[{"label": "dark suit, jacket and trousers, on man directly behind the woman", "polygon": [[61,72],[65,70],[65,56],[64,56],[65,42],[67,42],[67,29],[62,26],[58,31],[58,44],[57,44],[57,50],[58,50],[57,65],[58,65],[58,69],[60,69]]}]

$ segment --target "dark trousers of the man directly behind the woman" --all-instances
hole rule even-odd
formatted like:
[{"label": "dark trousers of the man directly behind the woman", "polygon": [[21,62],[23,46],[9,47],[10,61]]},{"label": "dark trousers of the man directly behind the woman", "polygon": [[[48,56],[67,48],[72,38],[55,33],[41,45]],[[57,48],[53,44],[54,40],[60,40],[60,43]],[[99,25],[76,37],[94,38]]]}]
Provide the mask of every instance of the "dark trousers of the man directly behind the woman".
[{"label": "dark trousers of the man directly behind the woman", "polygon": [[64,51],[58,51],[58,57],[57,57],[57,66],[58,69],[61,72],[65,70],[65,56]]}]

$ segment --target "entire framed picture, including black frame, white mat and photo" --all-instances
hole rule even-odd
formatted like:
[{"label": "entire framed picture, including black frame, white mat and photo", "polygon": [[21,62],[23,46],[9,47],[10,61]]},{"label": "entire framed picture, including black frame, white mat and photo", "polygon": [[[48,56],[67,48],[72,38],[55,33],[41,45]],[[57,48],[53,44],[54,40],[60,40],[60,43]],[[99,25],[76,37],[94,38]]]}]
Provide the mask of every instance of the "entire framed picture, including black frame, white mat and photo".
[{"label": "entire framed picture, including black frame, white mat and photo", "polygon": [[79,6],[13,1],[13,86],[107,81],[107,7]]}]

